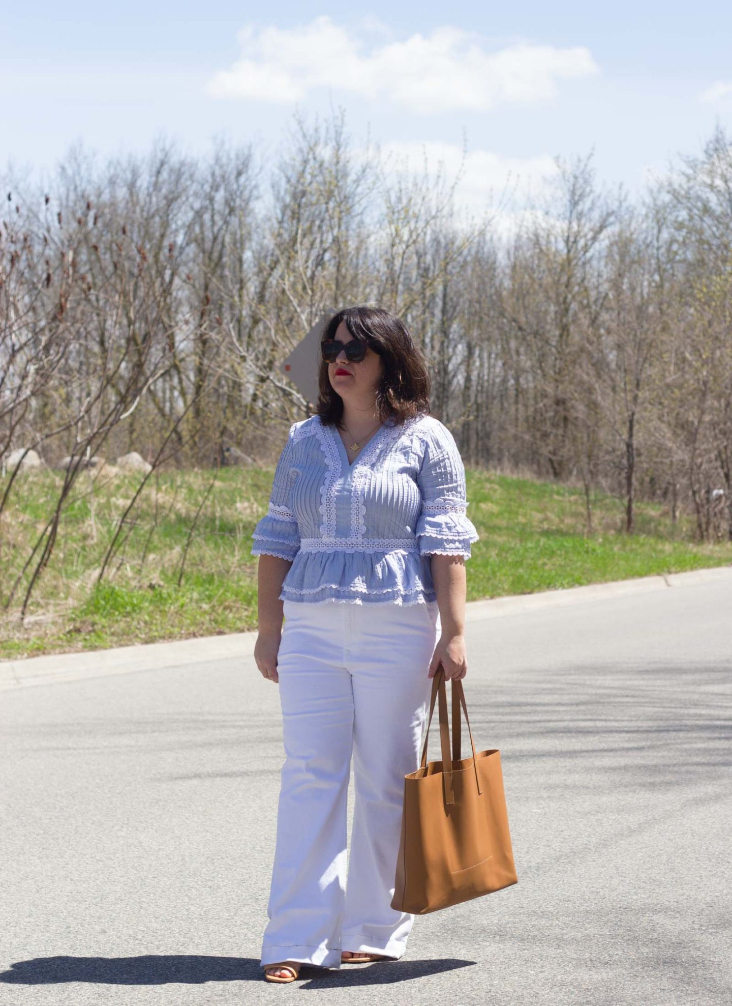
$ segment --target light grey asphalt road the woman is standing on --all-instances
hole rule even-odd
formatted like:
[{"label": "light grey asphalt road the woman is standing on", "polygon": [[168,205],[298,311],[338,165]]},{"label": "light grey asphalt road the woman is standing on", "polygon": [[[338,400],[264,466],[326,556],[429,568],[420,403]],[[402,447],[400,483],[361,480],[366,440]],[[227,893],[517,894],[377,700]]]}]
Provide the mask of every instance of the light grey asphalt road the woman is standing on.
[{"label": "light grey asphalt road the woman is standing on", "polygon": [[258,966],[283,752],[250,646],[0,692],[0,1002],[729,1006],[732,576],[494,615],[465,687],[519,883],[287,987]]}]

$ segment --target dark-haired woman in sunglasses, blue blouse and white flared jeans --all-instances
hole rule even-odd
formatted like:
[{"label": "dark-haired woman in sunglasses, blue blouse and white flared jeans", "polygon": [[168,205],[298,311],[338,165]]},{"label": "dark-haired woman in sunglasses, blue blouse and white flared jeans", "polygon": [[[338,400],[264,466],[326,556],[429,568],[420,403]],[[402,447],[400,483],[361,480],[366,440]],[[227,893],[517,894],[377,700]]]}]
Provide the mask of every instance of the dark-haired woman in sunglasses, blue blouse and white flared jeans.
[{"label": "dark-haired woman in sunglasses, blue blouse and white flared jeans", "polygon": [[458,447],[428,414],[424,357],[399,319],[339,311],[321,353],[316,414],[290,429],[251,549],[254,659],[279,682],[286,752],[261,948],[281,982],[302,964],[404,954],[414,916],[390,906],[404,776],[419,765],[429,679],[440,663],[445,678],[468,669],[478,540]]}]

